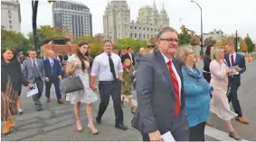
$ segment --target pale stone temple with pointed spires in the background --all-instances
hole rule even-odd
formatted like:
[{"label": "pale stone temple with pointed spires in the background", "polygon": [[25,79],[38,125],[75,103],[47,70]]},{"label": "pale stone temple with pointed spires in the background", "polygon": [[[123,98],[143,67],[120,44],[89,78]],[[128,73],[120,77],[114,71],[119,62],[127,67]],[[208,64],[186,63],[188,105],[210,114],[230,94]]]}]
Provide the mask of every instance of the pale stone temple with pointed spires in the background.
[{"label": "pale stone temple with pointed spires in the background", "polygon": [[103,15],[104,39],[116,42],[121,38],[150,40],[158,31],[169,26],[164,4],[158,12],[155,1],[152,6],[138,10],[137,22],[130,21],[130,8],[126,0],[111,0]]}]

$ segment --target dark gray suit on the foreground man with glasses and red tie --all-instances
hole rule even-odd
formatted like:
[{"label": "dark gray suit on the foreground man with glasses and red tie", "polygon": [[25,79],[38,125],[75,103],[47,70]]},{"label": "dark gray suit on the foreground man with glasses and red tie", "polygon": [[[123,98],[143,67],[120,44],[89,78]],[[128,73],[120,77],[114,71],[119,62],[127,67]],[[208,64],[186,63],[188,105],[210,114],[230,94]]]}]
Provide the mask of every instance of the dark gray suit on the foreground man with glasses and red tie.
[{"label": "dark gray suit on the foreground man with glasses and red tie", "polygon": [[[183,84],[181,65],[173,59],[175,69]],[[181,112],[175,116],[175,89],[164,57],[156,51],[141,58],[137,67],[137,111],[132,127],[142,133],[159,130],[161,134],[171,131],[176,141],[188,141],[189,129],[185,118],[185,94],[181,90]]]}]

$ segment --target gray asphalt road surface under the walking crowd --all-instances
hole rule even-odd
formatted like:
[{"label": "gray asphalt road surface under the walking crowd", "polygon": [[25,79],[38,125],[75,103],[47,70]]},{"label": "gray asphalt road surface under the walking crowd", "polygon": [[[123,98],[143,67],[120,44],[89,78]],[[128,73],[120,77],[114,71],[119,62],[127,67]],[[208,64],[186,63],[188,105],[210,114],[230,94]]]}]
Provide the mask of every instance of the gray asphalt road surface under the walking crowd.
[{"label": "gray asphalt road surface under the walking crowd", "polygon": [[[203,67],[202,61],[197,63],[199,68]],[[249,125],[244,125],[236,120],[232,120],[234,129],[242,138],[246,140],[256,140],[256,61],[247,64],[247,71],[242,75],[242,86],[239,89],[239,99],[242,105],[242,111],[245,118],[250,120]],[[25,88],[24,88],[25,89]],[[70,102],[57,104],[54,87],[51,90],[52,102],[47,103],[46,98],[41,98],[43,102],[43,111],[35,111],[33,99],[27,98],[25,90],[22,93],[22,105],[24,114],[15,116],[16,128],[7,135],[2,136],[3,141],[139,141],[140,133],[136,129],[132,129],[130,121],[132,114],[127,108],[124,109],[125,124],[128,126],[127,131],[114,128],[114,111],[113,103],[109,102],[108,110],[105,112],[101,124],[96,124],[100,134],[97,136],[90,135],[90,131],[86,129],[87,118],[85,113],[85,105],[82,105],[81,118],[83,123],[83,131],[77,132],[75,126],[75,117],[73,105]],[[135,104],[136,97],[134,98]],[[100,101],[93,104],[94,116],[99,109]],[[223,120],[218,119],[211,114],[210,120],[213,127],[207,127],[205,130],[205,139],[207,141],[227,141],[232,140],[225,133],[225,125]],[[2,122],[3,126],[3,122]]]}]

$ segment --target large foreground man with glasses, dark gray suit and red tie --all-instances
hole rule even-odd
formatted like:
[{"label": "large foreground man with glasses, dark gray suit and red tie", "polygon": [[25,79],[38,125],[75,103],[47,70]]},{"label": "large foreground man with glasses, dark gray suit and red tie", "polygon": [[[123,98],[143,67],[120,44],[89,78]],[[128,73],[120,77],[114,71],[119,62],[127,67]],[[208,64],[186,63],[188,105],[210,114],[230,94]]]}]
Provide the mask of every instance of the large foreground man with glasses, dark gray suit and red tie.
[{"label": "large foreground man with glasses, dark gray suit and red tie", "polygon": [[176,141],[188,141],[181,65],[173,58],[178,47],[175,29],[159,31],[157,47],[137,67],[137,111],[132,126],[142,133],[143,141],[163,140],[161,135],[169,131]]}]

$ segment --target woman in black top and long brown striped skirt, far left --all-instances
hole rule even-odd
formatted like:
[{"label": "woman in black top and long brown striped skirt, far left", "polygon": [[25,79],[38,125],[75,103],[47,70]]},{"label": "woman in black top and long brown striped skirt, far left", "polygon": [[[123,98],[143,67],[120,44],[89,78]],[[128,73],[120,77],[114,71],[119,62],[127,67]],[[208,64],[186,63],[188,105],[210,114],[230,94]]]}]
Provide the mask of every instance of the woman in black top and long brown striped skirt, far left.
[{"label": "woman in black top and long brown striped skirt, far left", "polygon": [[22,84],[33,84],[29,84],[24,78],[14,50],[2,50],[1,59],[1,120],[4,121],[3,134],[8,134],[15,127],[13,115],[17,114],[19,89]]}]

